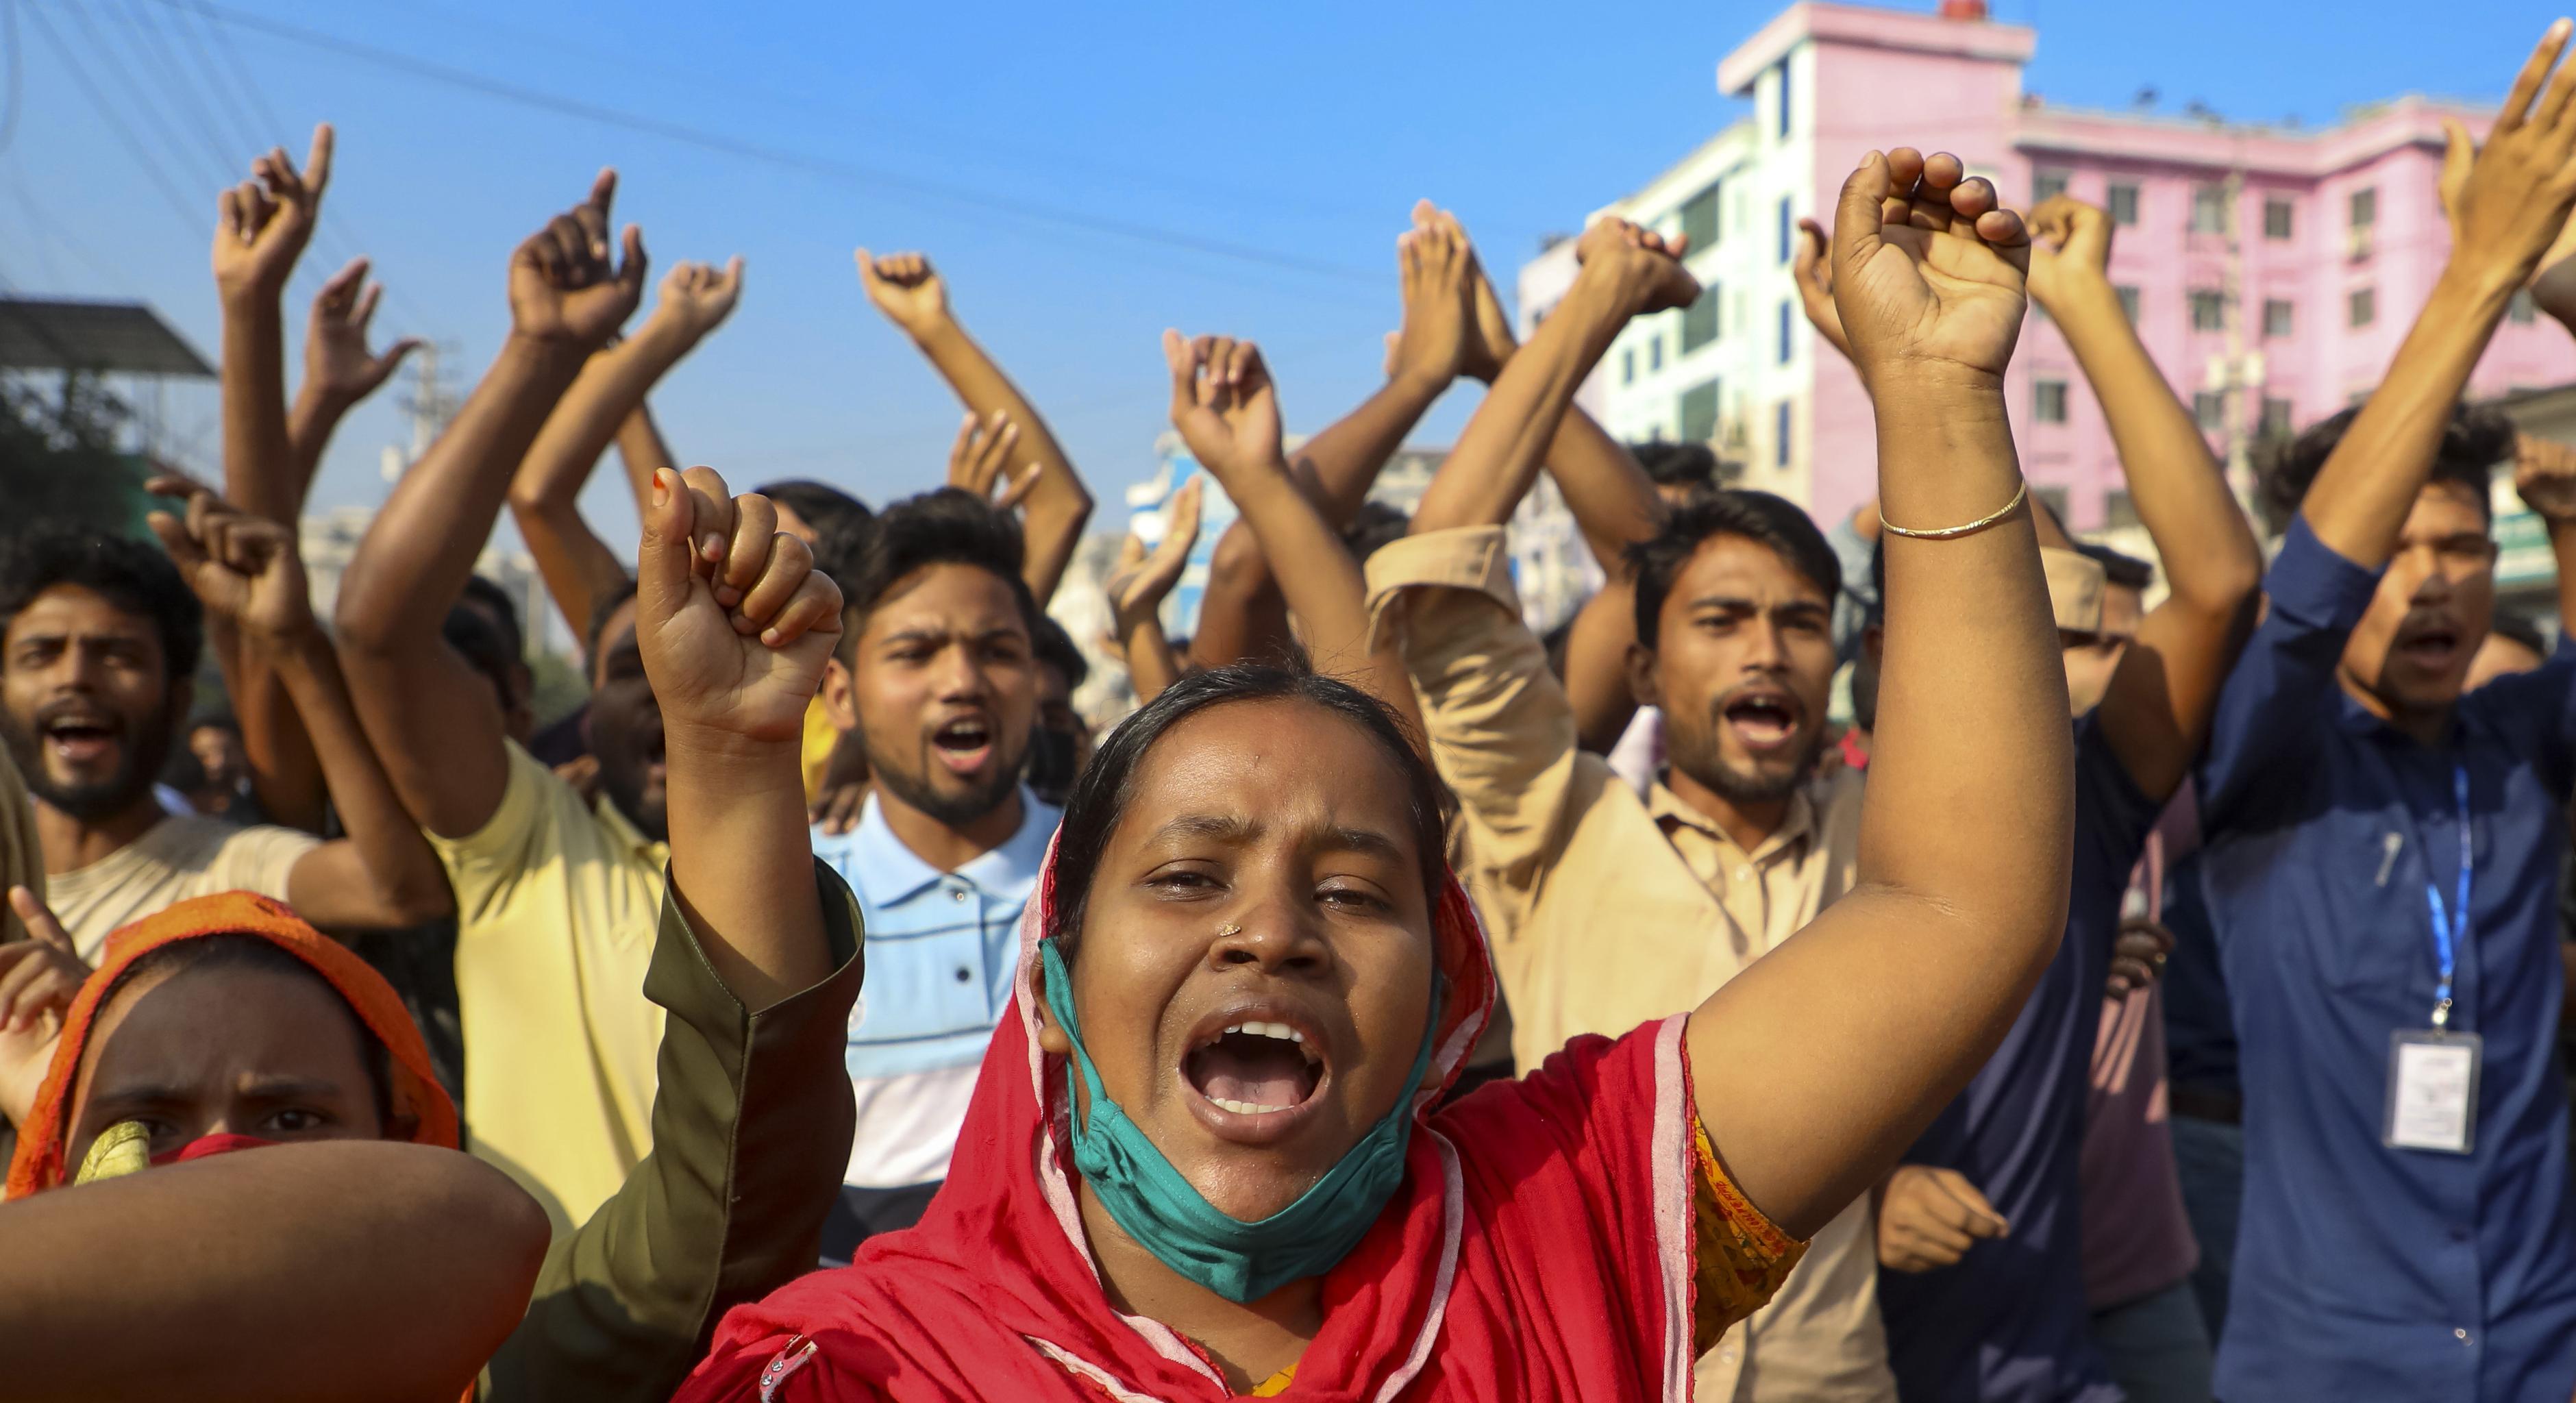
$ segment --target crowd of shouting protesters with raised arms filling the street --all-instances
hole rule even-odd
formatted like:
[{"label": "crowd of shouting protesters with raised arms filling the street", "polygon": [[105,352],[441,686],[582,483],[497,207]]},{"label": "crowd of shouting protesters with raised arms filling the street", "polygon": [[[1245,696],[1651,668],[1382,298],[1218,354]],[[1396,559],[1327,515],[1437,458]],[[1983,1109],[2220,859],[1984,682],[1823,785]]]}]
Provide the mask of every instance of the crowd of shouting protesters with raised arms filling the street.
[{"label": "crowd of shouting protesters with raised arms filling the street", "polygon": [[[1682,239],[1600,219],[1520,342],[1425,201],[1298,448],[1252,340],[1164,332],[1239,520],[1188,638],[1206,487],[1126,543],[1100,734],[1046,613],[1092,497],[940,273],[858,252],[945,484],[737,494],[647,399],[742,263],[636,322],[613,172],[314,618],[294,523],[410,348],[350,265],[289,399],[332,134],[260,157],[222,484],[0,523],[0,1395],[2576,1395],[2576,646],[2491,530],[2512,471],[2576,597],[2576,451],[2463,402],[2512,299],[2576,332],[2568,39],[2452,129],[2450,260],[2262,528],[2079,198],[1852,152],[1795,257],[1878,430],[1832,523],[1577,407]],[[2022,481],[2032,304],[2154,566]],[[1605,577],[1553,636],[1540,474]],[[505,507],[582,638],[549,726]]]}]

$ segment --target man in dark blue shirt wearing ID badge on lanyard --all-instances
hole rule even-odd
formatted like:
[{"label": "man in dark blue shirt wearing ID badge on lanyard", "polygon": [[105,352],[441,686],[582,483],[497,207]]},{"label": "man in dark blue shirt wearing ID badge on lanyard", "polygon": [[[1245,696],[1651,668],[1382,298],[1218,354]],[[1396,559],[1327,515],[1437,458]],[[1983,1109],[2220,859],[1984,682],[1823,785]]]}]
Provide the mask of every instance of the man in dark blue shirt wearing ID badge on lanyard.
[{"label": "man in dark blue shirt wearing ID badge on lanyard", "polygon": [[[2298,520],[2200,775],[2246,1133],[2223,1398],[2576,1390],[2555,1066],[2576,651],[2460,695],[2512,430],[2455,409],[2576,203],[2571,77],[2535,106],[2566,41],[2558,21],[2473,162],[2452,129],[2450,265],[2388,381],[2267,481]],[[2522,497],[2566,600],[2576,481]]]}]

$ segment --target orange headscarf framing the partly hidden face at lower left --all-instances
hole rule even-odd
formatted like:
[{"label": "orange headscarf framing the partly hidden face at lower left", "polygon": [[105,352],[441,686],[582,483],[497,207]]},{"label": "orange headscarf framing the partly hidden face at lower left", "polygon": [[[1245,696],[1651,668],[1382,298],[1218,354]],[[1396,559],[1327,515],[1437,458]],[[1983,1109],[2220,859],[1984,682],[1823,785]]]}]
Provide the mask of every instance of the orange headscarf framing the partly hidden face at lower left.
[{"label": "orange headscarf framing the partly hidden face at lower left", "polygon": [[106,1004],[116,981],[134,968],[134,960],[165,945],[204,940],[209,934],[265,940],[319,973],[358,1012],[358,1022],[384,1043],[394,1071],[394,1115],[412,1117],[412,1143],[459,1148],[456,1102],[448,1099],[446,1089],[438,1086],[438,1076],[430,1073],[430,1050],[420,1040],[420,1027],[404,1012],[394,986],[384,983],[384,976],[358,955],[350,955],[348,947],[304,924],[283,901],[227,891],[165,906],[108,937],[106,960],[80,986],[72,1009],[62,1019],[54,1063],[36,1092],[36,1107],[28,1112],[26,1125],[18,1128],[18,1153],[10,1158],[8,1192],[0,1197],[18,1200],[64,1182],[64,1153],[72,1135],[72,1081],[80,1076],[80,1055],[90,1043],[90,1027],[98,1022],[98,1007]]}]

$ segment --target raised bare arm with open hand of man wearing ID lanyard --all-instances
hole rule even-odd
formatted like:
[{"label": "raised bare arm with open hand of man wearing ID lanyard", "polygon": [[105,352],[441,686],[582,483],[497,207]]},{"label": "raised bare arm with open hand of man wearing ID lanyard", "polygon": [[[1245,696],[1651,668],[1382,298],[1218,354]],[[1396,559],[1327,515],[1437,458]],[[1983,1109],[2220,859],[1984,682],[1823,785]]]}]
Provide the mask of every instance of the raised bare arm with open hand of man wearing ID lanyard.
[{"label": "raised bare arm with open hand of man wearing ID lanyard", "polygon": [[2483,149],[2473,152],[2468,129],[2445,121],[2450,263],[2388,378],[2354,414],[2300,505],[2316,538],[2362,569],[2380,569],[2396,551],[2468,373],[2576,206],[2576,75],[2561,72],[2548,85],[2566,46],[2568,21],[2550,23],[2504,95]]}]

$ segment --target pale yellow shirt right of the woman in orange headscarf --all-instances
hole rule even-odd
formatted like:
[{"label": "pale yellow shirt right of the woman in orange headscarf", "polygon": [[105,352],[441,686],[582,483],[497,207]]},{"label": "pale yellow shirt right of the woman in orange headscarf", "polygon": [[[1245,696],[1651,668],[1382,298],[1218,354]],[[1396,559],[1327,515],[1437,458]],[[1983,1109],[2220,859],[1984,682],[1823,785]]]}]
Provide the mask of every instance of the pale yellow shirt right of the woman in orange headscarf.
[{"label": "pale yellow shirt right of the woman in orange headscarf", "polygon": [[466,1148],[564,1233],[652,1151],[662,1009],[644,968],[670,847],[518,744],[492,821],[430,847],[456,891]]}]

